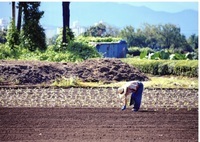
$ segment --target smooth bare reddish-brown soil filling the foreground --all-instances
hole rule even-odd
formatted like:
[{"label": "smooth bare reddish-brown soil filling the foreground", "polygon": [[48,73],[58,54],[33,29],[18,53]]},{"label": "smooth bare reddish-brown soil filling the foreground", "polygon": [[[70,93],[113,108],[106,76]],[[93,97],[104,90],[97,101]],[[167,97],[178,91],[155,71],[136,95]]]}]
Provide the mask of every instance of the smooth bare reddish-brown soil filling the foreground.
[{"label": "smooth bare reddish-brown soil filling the foreground", "polygon": [[198,112],[0,108],[0,141],[197,142]]}]

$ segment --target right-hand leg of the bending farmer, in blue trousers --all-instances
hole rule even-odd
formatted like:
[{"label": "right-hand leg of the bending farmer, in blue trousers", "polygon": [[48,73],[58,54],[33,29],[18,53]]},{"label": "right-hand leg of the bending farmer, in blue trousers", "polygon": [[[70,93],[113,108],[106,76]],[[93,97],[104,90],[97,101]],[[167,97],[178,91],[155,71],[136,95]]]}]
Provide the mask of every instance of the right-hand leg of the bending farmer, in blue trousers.
[{"label": "right-hand leg of the bending farmer, in blue trousers", "polygon": [[139,88],[135,93],[135,104],[134,104],[134,111],[138,111],[140,109],[141,101],[142,101],[142,93],[143,93],[143,84],[139,83]]}]

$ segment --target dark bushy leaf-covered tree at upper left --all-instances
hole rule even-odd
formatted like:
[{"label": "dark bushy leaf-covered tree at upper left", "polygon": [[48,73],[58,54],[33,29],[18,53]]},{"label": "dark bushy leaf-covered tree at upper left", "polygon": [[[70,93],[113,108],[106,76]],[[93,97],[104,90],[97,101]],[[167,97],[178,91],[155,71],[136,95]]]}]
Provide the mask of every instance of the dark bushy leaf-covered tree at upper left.
[{"label": "dark bushy leaf-covered tree at upper left", "polygon": [[40,2],[21,2],[23,25],[21,44],[30,51],[46,50],[44,29],[39,23],[44,12],[39,11]]}]

